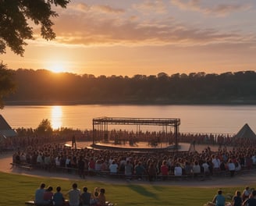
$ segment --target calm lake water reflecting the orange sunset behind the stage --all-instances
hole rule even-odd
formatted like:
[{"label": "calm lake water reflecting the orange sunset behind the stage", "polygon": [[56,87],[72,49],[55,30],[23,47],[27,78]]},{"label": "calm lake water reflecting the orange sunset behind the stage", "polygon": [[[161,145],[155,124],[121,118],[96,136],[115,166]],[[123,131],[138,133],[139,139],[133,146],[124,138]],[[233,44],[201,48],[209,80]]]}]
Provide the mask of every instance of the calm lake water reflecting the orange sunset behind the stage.
[{"label": "calm lake water reflecting the orange sunset behind the stage", "polygon": [[[48,119],[54,129],[92,130],[96,117],[178,118],[181,133],[237,133],[245,123],[256,131],[255,105],[65,105],[5,106],[0,113],[13,129],[37,128]],[[126,126],[127,128],[127,126]],[[113,129],[126,129],[116,126]],[[111,129],[111,128],[110,128]],[[136,128],[127,128],[136,130]],[[152,126],[140,130],[162,130]]]}]

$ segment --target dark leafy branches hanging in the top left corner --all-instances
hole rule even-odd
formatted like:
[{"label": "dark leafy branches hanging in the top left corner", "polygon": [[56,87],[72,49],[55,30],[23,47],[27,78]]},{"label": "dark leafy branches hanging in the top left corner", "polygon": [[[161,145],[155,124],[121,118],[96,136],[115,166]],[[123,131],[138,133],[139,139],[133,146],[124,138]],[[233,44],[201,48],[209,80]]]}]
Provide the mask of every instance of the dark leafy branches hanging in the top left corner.
[{"label": "dark leafy branches hanging in the top left corner", "polygon": [[52,40],[55,33],[51,17],[58,16],[52,5],[66,8],[69,0],[0,0],[0,53],[8,46],[17,55],[23,55],[27,43],[33,39],[33,27],[29,20],[41,25],[41,36]]}]

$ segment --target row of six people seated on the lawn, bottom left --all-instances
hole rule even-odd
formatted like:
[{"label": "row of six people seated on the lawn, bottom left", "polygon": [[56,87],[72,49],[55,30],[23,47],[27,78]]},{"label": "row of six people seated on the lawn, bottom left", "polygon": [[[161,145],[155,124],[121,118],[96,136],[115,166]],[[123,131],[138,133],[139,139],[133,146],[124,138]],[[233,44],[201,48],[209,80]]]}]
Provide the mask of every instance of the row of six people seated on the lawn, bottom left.
[{"label": "row of six people seated on the lawn, bottom left", "polygon": [[[67,200],[66,200],[67,197]],[[68,203],[68,204],[67,204]],[[94,192],[88,191],[87,186],[81,191],[77,183],[73,183],[72,188],[62,194],[61,186],[56,186],[55,192],[52,186],[41,183],[40,187],[35,191],[34,204],[37,206],[109,206],[112,203],[106,201],[105,189],[94,188]]]}]

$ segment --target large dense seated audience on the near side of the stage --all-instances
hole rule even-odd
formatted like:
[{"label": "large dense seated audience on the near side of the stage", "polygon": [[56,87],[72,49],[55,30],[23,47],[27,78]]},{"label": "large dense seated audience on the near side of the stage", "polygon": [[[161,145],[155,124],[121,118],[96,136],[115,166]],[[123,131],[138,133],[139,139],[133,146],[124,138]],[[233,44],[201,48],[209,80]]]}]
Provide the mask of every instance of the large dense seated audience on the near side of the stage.
[{"label": "large dense seated audience on the near side of the stage", "polygon": [[[241,145],[242,146],[242,145]],[[167,151],[154,152],[94,150],[91,148],[66,147],[63,144],[34,145],[16,151],[12,156],[16,164],[30,164],[51,171],[55,168],[76,169],[81,178],[94,172],[124,174],[126,178],[142,179],[148,176],[213,176],[220,172],[233,177],[241,169],[253,169],[256,165],[256,149],[251,147],[219,147],[212,151]],[[69,170],[70,169],[70,170]]]}]

